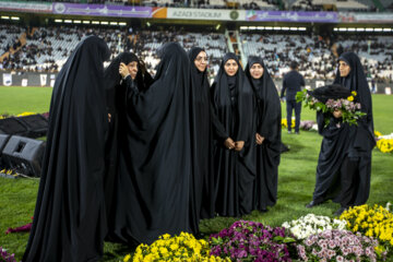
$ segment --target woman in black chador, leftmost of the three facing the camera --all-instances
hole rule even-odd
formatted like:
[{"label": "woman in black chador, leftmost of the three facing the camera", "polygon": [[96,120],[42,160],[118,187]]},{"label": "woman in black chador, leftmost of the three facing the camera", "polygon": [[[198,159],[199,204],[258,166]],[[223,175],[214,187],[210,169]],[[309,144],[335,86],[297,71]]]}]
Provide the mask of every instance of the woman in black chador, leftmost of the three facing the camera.
[{"label": "woman in black chador, leftmost of the three facing the camera", "polygon": [[191,217],[192,231],[199,233],[199,218],[214,216],[214,176],[212,171],[212,129],[210,85],[207,80],[207,55],[200,47],[193,47],[188,52],[191,62],[191,148],[192,180]]}]

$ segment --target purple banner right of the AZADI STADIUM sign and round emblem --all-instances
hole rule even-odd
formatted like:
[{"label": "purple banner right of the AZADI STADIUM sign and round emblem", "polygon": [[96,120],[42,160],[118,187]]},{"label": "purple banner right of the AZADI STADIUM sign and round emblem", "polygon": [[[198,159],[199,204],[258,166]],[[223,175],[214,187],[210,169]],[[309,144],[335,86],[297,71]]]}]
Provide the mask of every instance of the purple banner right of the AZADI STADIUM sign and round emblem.
[{"label": "purple banner right of the AZADI STADIUM sign and round emblem", "polygon": [[255,21],[255,22],[298,22],[298,23],[337,23],[338,22],[338,14],[336,12],[247,10],[247,21]]}]

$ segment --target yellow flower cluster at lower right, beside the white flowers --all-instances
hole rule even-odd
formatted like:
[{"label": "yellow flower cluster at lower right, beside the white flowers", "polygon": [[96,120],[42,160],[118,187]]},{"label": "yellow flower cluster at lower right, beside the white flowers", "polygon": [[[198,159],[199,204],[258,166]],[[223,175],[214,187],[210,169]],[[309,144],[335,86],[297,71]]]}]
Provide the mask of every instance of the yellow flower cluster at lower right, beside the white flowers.
[{"label": "yellow flower cluster at lower right, beside the white flowers", "polygon": [[[393,214],[381,205],[367,204],[345,211],[340,219],[347,222],[347,227],[367,237],[378,238],[382,243],[393,246]],[[392,247],[391,247],[392,249]]]}]

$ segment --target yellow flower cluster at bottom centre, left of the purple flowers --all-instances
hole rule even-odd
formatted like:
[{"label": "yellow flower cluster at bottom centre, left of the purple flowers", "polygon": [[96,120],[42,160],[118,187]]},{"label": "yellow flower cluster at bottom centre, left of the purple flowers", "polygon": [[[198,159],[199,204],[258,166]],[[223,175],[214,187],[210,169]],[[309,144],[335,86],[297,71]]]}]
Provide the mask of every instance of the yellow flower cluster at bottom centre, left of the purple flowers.
[{"label": "yellow flower cluster at bottom centre, left of the purple flowers", "polygon": [[[178,261],[178,262],[224,262],[230,259],[222,259],[210,255],[209,243],[201,239],[195,239],[191,234],[181,233],[179,236],[170,237],[165,234],[151,246],[141,243],[138,246],[133,255],[133,262],[154,262],[154,261]],[[123,261],[131,258],[126,255]]]}]

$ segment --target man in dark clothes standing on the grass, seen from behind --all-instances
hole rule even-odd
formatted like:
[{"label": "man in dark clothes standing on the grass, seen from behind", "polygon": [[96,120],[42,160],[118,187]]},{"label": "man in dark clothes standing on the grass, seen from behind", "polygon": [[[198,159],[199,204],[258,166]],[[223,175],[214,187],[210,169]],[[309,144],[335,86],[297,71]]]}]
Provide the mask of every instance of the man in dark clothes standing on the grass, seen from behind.
[{"label": "man in dark clothes standing on the grass, seen from behind", "polygon": [[290,72],[284,75],[281,98],[283,99],[285,90],[287,90],[286,108],[288,133],[291,133],[291,114],[295,109],[295,133],[299,134],[301,102],[296,103],[296,93],[299,92],[301,86],[305,86],[306,84],[303,76],[301,76],[301,74],[297,71],[297,62],[290,62]]}]

